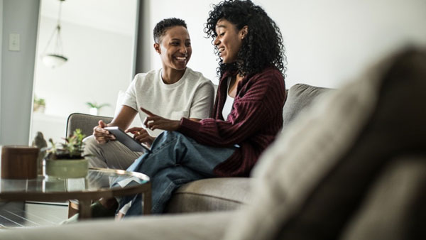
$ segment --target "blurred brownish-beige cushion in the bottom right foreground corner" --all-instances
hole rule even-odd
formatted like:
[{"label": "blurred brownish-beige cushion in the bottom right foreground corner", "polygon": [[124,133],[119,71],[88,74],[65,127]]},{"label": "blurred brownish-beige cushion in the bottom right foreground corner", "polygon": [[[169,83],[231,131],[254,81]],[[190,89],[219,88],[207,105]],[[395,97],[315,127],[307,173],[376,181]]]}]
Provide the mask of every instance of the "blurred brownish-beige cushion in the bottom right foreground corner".
[{"label": "blurred brownish-beige cushion in the bottom right foreground corner", "polygon": [[395,158],[368,191],[344,240],[426,239],[426,155]]}]

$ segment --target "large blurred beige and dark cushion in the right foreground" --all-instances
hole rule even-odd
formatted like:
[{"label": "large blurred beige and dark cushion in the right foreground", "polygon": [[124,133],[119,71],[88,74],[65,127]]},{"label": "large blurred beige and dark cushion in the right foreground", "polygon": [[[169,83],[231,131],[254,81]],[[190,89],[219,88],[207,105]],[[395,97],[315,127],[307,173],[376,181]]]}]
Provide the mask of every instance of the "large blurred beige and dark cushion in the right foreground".
[{"label": "large blurred beige and dark cushion in the right foreground", "polygon": [[337,239],[388,161],[425,151],[425,66],[425,52],[399,53],[300,114],[256,166],[226,239]]}]

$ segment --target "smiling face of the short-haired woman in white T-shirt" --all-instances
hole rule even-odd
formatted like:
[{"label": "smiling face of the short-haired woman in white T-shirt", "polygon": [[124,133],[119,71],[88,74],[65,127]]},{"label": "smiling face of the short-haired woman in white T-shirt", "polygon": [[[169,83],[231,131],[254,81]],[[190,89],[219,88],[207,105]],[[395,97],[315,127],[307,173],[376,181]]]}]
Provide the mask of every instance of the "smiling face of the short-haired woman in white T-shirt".
[{"label": "smiling face of the short-haired woman in white T-shirt", "polygon": [[154,43],[154,48],[160,54],[163,70],[185,70],[190,61],[192,48],[190,33],[183,26],[174,26],[165,31],[160,43]]}]

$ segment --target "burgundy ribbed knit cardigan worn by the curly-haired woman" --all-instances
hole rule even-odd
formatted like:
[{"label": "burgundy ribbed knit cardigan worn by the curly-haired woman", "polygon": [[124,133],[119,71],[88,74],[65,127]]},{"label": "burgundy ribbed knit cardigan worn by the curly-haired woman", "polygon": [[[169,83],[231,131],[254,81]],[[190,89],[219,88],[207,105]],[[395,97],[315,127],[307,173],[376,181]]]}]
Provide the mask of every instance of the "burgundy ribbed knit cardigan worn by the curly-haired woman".
[{"label": "burgundy ribbed knit cardigan worn by the curly-haired woman", "polygon": [[238,144],[235,153],[214,168],[220,177],[248,176],[261,153],[275,140],[283,126],[285,83],[281,72],[273,67],[245,77],[237,86],[231,114],[226,121],[222,109],[226,100],[225,73],[219,82],[214,103],[214,119],[200,122],[182,119],[181,133],[195,141],[214,147]]}]

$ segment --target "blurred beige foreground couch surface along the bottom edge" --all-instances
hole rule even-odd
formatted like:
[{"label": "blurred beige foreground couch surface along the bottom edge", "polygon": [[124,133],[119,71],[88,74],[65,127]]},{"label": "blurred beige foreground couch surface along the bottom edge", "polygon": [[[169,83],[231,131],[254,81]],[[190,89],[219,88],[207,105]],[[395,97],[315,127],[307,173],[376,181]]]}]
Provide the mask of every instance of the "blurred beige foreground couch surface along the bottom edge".
[{"label": "blurred beige foreground couch surface along the bottom edge", "polygon": [[33,229],[0,229],[4,240],[159,240],[159,239],[222,239],[224,229],[234,212],[209,214],[175,214],[134,217],[114,220],[83,221],[60,227]]}]

